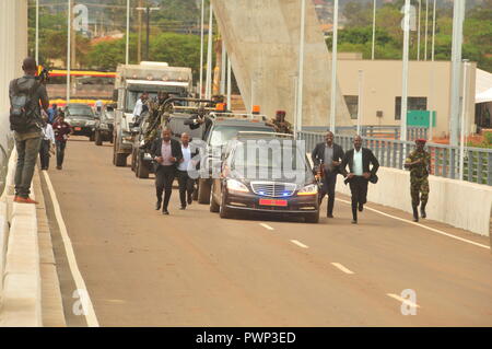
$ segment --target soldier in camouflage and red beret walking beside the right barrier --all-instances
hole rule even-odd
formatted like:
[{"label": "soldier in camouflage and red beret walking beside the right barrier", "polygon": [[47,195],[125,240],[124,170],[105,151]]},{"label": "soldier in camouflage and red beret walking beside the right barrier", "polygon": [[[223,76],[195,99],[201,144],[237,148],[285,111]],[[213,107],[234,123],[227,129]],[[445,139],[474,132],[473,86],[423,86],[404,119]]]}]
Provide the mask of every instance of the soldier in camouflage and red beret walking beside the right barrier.
[{"label": "soldier in camouflage and red beret walking beside the right barrier", "polygon": [[[425,205],[429,200],[429,174],[431,173],[431,154],[424,150],[425,139],[415,140],[417,149],[405,161],[405,167],[410,170],[410,194],[412,197],[413,221],[419,221],[420,213],[425,218]],[[420,197],[419,197],[420,195]]]}]

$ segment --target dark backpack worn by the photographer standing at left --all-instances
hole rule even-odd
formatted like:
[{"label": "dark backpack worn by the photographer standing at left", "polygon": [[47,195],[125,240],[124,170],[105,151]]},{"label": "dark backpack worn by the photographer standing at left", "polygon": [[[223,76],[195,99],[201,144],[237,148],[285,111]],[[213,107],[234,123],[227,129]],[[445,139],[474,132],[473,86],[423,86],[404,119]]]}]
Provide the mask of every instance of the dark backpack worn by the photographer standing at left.
[{"label": "dark backpack worn by the photographer standing at left", "polygon": [[33,94],[39,88],[39,83],[34,81],[33,85],[25,90],[19,88],[19,80],[14,80],[13,95],[10,98],[10,129],[16,132],[26,132],[37,123],[36,110],[33,109]]}]

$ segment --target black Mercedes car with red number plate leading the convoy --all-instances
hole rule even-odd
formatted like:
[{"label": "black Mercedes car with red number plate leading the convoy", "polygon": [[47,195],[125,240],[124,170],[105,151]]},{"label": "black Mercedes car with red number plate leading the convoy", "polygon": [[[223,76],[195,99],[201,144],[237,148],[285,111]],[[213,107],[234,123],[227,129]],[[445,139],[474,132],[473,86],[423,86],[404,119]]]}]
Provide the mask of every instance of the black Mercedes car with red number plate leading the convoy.
[{"label": "black Mercedes car with red number plate leading the convoy", "polygon": [[282,135],[244,135],[230,143],[213,179],[210,211],[302,217],[319,221],[318,184],[305,150]]}]

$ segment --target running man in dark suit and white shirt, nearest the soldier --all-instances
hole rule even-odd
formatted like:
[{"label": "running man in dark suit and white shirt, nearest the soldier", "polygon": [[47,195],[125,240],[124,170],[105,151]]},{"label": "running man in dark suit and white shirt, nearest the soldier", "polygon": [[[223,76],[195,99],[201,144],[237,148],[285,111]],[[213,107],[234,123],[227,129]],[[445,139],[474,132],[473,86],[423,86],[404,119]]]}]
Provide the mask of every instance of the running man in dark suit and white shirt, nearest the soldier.
[{"label": "running man in dark suit and white shirt, nearest the soldier", "polygon": [[[340,171],[347,177],[345,183],[350,184],[350,191],[352,193],[352,223],[356,224],[358,208],[361,212],[364,209],[364,203],[367,201],[367,184],[370,181],[375,183],[379,163],[370,149],[362,148],[361,136],[355,136],[353,146],[354,149],[349,150],[343,156]],[[372,164],[371,170],[370,164]],[[345,171],[347,165],[349,165],[350,173]]]}]

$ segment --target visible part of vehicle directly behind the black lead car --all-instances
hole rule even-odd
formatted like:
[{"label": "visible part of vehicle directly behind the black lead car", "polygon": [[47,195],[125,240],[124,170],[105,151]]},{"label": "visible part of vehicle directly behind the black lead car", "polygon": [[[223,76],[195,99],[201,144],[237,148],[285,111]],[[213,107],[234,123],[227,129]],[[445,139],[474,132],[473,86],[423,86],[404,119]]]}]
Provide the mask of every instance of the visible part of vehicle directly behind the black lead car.
[{"label": "visible part of vehicle directly behind the black lead car", "polygon": [[[274,128],[267,125],[262,120],[253,119],[250,117],[243,117],[234,114],[223,114],[212,118],[210,128],[206,131],[203,140],[208,147],[208,154],[204,159],[208,162],[207,166],[212,171],[214,163],[220,161],[216,159],[221,156],[222,151],[230,140],[237,136],[239,131],[256,131],[256,132],[274,132]],[[219,149],[219,151],[218,151]],[[214,150],[214,151],[213,151]],[[203,167],[203,159],[200,162],[200,167]],[[201,172],[198,179],[198,202],[210,202],[210,190],[212,186],[212,173],[208,175]]]}]

